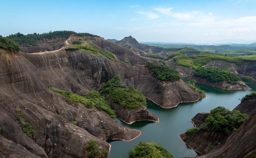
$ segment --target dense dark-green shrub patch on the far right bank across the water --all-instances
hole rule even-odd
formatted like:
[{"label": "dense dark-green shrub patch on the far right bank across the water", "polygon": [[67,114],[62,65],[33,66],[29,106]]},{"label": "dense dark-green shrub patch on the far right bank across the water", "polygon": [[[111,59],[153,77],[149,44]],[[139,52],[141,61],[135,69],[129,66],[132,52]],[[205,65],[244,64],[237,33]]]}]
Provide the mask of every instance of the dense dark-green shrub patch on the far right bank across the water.
[{"label": "dense dark-green shrub patch on the far right bank across the water", "polygon": [[240,78],[228,71],[210,67],[194,67],[195,77],[207,78],[209,82],[217,83],[227,81],[228,84],[237,84]]}]

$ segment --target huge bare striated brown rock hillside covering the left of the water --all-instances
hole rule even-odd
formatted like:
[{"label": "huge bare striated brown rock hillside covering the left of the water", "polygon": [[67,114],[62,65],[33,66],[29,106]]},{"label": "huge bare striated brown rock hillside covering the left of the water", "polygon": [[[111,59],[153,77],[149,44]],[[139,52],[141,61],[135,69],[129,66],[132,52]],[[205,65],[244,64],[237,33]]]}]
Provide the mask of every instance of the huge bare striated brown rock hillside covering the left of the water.
[{"label": "huge bare striated brown rock hillside covering the left of the water", "polygon": [[[104,56],[94,57],[64,49],[31,54],[0,52],[2,157],[80,158],[84,157],[90,139],[97,140],[101,149],[109,150],[106,139],[131,140],[140,135],[139,130],[118,125],[103,111],[67,101],[48,86],[83,95],[120,75],[124,83],[140,89],[147,98],[163,107],[174,107],[179,102],[201,98],[182,80],[158,83],[144,67],[144,63],[149,61],[147,58],[100,38],[85,38],[94,41],[98,48],[112,50],[120,60],[112,61]],[[72,39],[66,40],[65,44],[70,42]],[[122,62],[125,60],[134,66]],[[17,114],[17,108],[26,121]],[[122,110],[121,114],[125,112]],[[127,123],[158,121],[144,108],[129,112],[130,115],[123,118]],[[78,126],[72,121],[77,121]],[[23,133],[22,126],[26,122],[35,130],[32,139]]]}]

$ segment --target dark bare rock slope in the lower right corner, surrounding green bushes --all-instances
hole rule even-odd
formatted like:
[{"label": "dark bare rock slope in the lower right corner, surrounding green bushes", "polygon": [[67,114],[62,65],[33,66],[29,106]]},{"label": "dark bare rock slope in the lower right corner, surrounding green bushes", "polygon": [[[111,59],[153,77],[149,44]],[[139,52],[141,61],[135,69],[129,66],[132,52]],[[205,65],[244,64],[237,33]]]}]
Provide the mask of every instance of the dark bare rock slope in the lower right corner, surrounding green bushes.
[{"label": "dark bare rock slope in the lower right corner, surrounding green bushes", "polygon": [[[250,140],[256,139],[256,97],[242,101],[234,110],[239,110],[250,116],[249,120],[243,123],[232,135],[225,135],[215,131],[197,130],[191,135],[183,133],[182,140],[197,153],[208,153],[209,147],[218,142],[213,150],[202,158],[244,158],[256,153],[255,143]],[[198,113],[191,121],[198,127],[202,124],[209,113]]]}]

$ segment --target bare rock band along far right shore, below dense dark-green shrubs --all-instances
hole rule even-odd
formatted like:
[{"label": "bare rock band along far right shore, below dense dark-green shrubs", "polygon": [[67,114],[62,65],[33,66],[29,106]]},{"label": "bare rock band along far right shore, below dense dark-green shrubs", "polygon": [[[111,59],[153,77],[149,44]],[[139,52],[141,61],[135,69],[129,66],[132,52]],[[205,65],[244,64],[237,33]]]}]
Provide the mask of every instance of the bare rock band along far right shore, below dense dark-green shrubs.
[{"label": "bare rock band along far right shore, below dense dark-green shrubs", "polygon": [[225,89],[225,90],[248,90],[251,89],[247,84],[245,84],[243,81],[238,81],[237,84],[228,84],[226,81],[218,82],[218,83],[212,83],[209,82],[207,78],[200,78],[195,77],[194,75],[189,77],[189,80],[195,80],[196,83],[199,84],[206,84],[209,86]]}]

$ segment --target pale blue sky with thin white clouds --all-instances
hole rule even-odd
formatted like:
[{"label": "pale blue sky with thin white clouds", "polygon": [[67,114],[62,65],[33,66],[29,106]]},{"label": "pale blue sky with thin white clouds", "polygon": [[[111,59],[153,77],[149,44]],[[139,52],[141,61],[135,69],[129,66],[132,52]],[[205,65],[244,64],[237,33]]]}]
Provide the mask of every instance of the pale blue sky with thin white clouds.
[{"label": "pale blue sky with thin white clouds", "polygon": [[256,0],[1,0],[0,35],[74,30],[139,42],[256,42]]}]

